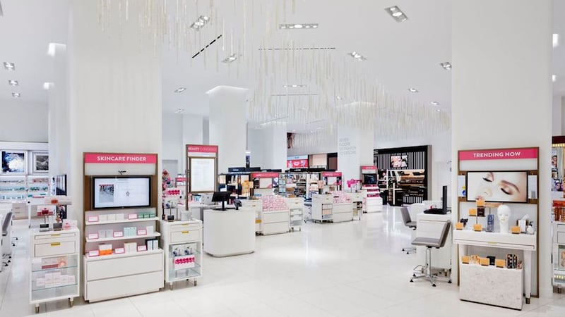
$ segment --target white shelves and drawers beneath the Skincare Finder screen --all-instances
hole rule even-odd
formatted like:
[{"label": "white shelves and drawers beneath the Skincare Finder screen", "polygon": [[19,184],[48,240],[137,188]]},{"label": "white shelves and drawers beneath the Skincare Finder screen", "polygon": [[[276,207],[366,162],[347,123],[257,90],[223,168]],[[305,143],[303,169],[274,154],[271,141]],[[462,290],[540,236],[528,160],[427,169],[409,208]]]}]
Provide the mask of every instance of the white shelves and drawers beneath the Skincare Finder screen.
[{"label": "white shelves and drawers beneath the Skincare Finder screen", "polygon": [[164,286],[163,251],[154,244],[161,236],[158,220],[155,208],[85,212],[85,301],[155,292]]}]

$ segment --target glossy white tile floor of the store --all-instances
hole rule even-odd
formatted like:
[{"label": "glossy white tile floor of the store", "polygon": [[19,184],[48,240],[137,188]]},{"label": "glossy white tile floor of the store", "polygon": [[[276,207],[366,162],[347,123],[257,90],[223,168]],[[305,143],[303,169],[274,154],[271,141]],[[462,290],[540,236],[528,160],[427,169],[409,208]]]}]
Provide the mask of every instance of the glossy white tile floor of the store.
[{"label": "glossy white tile floor of the store", "polygon": [[13,263],[0,273],[0,317],[17,316],[565,316],[565,296],[523,311],[461,302],[454,284],[410,283],[415,254],[398,209],[361,221],[308,223],[302,232],[257,237],[254,254],[206,256],[198,287],[85,304],[29,304],[27,225],[18,220]]}]

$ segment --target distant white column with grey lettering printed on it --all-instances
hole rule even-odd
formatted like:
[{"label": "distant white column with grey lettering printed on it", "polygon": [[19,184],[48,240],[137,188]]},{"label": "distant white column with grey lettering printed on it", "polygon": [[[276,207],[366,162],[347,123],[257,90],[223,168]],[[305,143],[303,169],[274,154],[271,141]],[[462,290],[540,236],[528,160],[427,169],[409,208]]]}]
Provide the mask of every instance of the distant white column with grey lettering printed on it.
[{"label": "distant white column with grey lettering printed on it", "polygon": [[343,173],[343,184],[347,184],[347,180],[358,180],[362,165],[373,164],[373,144],[371,130],[338,127],[338,171]]}]

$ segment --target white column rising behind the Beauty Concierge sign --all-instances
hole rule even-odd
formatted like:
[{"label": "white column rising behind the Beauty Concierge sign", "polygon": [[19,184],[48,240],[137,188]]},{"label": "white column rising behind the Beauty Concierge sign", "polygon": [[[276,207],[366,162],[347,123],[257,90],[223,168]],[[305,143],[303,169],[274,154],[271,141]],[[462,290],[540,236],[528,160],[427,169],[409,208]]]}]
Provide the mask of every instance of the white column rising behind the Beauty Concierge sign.
[{"label": "white column rising behind the Beauty Concierge sign", "polygon": [[210,142],[218,145],[218,173],[245,166],[245,98],[247,89],[218,86],[206,94],[210,103]]}]

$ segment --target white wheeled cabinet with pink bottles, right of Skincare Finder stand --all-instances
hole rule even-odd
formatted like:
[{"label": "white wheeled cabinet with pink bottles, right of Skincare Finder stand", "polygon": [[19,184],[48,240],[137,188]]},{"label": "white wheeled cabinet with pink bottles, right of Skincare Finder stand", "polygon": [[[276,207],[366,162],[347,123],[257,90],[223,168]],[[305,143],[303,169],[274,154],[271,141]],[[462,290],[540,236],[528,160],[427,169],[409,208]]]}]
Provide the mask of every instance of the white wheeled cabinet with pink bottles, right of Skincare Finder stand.
[{"label": "white wheeled cabinet with pink bottles, right of Skincare Finder stand", "polygon": [[192,280],[194,286],[202,277],[202,221],[161,220],[161,245],[165,252],[165,282]]}]

